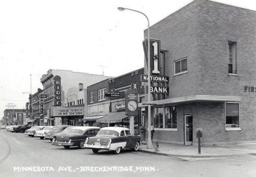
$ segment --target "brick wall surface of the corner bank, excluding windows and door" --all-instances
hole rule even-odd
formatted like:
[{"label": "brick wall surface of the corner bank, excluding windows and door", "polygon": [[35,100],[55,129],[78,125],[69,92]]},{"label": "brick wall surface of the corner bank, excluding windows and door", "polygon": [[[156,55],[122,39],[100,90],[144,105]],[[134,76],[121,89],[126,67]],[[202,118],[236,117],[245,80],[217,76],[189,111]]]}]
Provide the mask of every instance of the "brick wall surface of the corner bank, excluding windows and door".
[{"label": "brick wall surface of the corner bank, excluding windows and door", "polygon": [[[194,141],[197,128],[203,129],[203,143],[255,141],[256,91],[245,92],[244,87],[256,85],[256,12],[196,0],[156,23],[150,33],[151,38],[161,40],[161,49],[168,50],[169,98],[241,96],[241,131],[225,131],[224,102],[190,103],[177,107],[178,131],[156,131],[156,137],[183,142],[184,114],[191,113]],[[237,76],[228,75],[228,41],[237,42]],[[188,58],[188,72],[173,76],[173,62],[183,57]]]}]

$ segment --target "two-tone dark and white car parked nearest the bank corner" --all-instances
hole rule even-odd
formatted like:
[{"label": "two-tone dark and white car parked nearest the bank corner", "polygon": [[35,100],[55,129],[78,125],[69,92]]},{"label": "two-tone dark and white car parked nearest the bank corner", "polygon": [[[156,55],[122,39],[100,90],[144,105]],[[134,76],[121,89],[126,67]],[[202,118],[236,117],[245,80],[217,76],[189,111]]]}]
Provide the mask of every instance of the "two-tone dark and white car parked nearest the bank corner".
[{"label": "two-tone dark and white car parked nearest the bank corner", "polygon": [[92,149],[94,153],[99,150],[111,150],[119,154],[121,149],[139,150],[141,137],[132,136],[125,127],[104,127],[95,137],[85,139],[85,148]]}]

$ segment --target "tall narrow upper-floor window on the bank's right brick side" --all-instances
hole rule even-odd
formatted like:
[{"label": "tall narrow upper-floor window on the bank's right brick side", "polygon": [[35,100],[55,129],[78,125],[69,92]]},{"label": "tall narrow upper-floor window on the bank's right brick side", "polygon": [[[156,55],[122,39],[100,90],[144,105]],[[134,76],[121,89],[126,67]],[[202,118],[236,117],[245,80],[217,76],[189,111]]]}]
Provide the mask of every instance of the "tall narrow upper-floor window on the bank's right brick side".
[{"label": "tall narrow upper-floor window on the bank's right brick side", "polygon": [[236,42],[229,41],[228,44],[229,44],[228,72],[229,74],[237,74]]}]

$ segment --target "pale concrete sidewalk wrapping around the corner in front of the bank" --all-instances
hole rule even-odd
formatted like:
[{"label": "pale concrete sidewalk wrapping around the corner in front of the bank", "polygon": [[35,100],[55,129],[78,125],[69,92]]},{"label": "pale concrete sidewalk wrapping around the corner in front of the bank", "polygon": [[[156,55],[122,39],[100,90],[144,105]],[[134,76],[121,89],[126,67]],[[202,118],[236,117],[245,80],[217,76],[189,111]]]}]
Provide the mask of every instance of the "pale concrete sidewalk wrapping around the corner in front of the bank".
[{"label": "pale concrete sidewalk wrapping around the corner in front of the bank", "polygon": [[197,145],[179,145],[171,143],[159,143],[159,149],[147,149],[146,144],[141,144],[140,151],[150,152],[159,155],[187,157],[187,158],[212,158],[232,157],[256,154],[256,143],[212,145],[201,147],[201,154],[198,154]]}]

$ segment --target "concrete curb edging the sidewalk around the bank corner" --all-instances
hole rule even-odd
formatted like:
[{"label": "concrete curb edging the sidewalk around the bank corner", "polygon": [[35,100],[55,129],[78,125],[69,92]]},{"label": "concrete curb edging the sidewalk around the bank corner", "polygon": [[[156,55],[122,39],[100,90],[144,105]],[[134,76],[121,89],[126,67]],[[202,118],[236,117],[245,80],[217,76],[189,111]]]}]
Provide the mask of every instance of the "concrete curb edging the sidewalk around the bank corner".
[{"label": "concrete curb edging the sidewalk around the bank corner", "polygon": [[145,149],[139,149],[141,152],[147,152],[152,154],[170,156],[170,157],[187,157],[187,158],[214,158],[214,157],[236,157],[236,156],[244,156],[244,155],[254,155],[254,153],[244,153],[244,154],[228,154],[228,155],[181,155],[181,154],[167,154],[164,152],[158,151],[150,151]]}]

